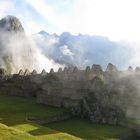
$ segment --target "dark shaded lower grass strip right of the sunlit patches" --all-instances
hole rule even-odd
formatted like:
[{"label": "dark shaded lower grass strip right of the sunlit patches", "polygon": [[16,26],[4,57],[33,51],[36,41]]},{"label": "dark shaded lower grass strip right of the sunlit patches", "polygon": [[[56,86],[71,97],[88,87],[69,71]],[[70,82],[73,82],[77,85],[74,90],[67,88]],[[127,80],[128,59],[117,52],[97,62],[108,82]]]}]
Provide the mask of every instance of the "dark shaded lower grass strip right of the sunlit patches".
[{"label": "dark shaded lower grass strip right of the sunlit patches", "polygon": [[88,120],[83,120],[79,118],[74,118],[57,123],[51,123],[47,124],[46,126],[57,131],[69,133],[71,135],[81,137],[83,139],[91,140],[119,138],[121,137],[121,135],[126,135],[129,131],[124,127],[95,124],[91,123]]}]

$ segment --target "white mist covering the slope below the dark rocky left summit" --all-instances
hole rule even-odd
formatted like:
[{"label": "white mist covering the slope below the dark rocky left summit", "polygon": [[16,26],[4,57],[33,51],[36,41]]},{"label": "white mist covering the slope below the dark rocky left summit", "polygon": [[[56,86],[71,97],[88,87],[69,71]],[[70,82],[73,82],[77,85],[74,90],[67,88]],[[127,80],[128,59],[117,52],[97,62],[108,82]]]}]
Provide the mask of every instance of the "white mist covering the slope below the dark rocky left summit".
[{"label": "white mist covering the slope below the dark rocky left summit", "polygon": [[63,67],[47,58],[24,31],[16,31],[16,28],[13,30],[13,25],[6,22],[7,24],[0,28],[1,68],[5,68],[9,73],[18,73],[20,69],[28,69],[31,72],[33,69],[38,72],[45,69],[48,72],[51,68],[56,71],[59,67]]}]

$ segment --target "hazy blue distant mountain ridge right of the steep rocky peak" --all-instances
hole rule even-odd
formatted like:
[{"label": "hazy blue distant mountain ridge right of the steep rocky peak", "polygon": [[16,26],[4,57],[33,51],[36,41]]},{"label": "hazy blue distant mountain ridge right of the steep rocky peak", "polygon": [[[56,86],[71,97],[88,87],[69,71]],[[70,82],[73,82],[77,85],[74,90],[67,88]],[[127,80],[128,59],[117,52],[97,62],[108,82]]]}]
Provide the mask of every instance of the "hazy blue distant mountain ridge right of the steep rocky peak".
[{"label": "hazy blue distant mountain ridge right of the steep rocky peak", "polygon": [[127,44],[103,36],[72,35],[69,32],[58,36],[41,31],[34,36],[34,40],[42,52],[53,60],[80,68],[93,63],[105,68],[108,62],[124,68],[131,64],[134,54]]}]

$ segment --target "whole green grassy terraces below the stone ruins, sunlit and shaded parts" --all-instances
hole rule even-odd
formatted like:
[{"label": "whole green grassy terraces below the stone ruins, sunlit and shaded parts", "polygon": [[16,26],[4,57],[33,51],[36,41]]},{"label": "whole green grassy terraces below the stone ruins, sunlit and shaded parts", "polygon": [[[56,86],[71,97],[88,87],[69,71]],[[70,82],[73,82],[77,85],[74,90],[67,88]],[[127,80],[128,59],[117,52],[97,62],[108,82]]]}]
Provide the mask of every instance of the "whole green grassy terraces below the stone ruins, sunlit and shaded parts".
[{"label": "whole green grassy terraces below the stone ruins, sunlit and shaded parts", "polygon": [[99,125],[78,118],[45,126],[25,120],[27,116],[47,118],[66,112],[66,109],[37,104],[34,98],[0,95],[0,140],[113,140],[129,133],[124,127]]}]

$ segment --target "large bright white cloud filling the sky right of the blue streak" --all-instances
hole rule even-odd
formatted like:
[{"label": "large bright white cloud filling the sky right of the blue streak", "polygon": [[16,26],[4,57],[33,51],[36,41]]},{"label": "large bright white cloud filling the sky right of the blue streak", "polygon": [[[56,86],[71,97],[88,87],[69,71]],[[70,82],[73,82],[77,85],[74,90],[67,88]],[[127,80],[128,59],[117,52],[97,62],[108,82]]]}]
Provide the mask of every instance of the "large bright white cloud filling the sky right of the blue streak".
[{"label": "large bright white cloud filling the sky right of the blue streak", "polygon": [[[107,36],[112,40],[139,40],[139,0],[26,0],[51,32],[69,31]],[[131,9],[131,10],[130,10]]]}]

